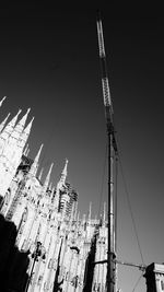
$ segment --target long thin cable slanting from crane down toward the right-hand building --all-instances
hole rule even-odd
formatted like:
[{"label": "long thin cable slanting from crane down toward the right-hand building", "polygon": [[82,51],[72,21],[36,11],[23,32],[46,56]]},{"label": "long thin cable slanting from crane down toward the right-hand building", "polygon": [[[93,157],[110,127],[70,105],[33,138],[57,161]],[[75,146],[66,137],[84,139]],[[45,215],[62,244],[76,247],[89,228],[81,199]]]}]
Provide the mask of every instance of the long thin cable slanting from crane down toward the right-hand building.
[{"label": "long thin cable slanting from crane down toward the right-hand building", "polygon": [[[117,142],[118,142],[118,139],[117,139]],[[131,215],[131,220],[132,220],[132,224],[133,224],[133,230],[134,230],[134,234],[136,234],[136,238],[137,238],[137,243],[138,243],[138,247],[139,247],[142,265],[145,266],[144,260],[143,260],[143,255],[142,255],[142,250],[141,250],[139,236],[138,236],[138,232],[137,232],[136,221],[134,221],[134,217],[133,217],[133,213],[132,213],[132,208],[131,208],[128,186],[127,186],[127,182],[126,182],[126,178],[125,178],[125,175],[124,175],[124,168],[122,168],[122,163],[121,163],[121,157],[120,157],[120,150],[118,152],[118,157],[119,157],[118,162],[119,162],[119,165],[120,165],[120,172],[121,172],[121,176],[122,176],[122,182],[124,182],[124,185],[125,185],[125,191],[126,191],[126,195],[127,195],[128,207],[129,207],[129,211],[130,211],[130,215]]]}]

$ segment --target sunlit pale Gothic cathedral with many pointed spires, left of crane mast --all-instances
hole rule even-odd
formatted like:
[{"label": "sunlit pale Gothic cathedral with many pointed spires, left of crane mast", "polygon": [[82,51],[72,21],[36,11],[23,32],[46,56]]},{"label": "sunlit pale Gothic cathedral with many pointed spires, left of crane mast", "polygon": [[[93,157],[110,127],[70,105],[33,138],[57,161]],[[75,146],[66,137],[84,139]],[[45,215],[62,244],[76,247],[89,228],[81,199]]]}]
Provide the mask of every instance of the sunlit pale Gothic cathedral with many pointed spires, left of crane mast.
[{"label": "sunlit pale Gothic cathedral with many pointed spires, left of crane mast", "polygon": [[54,164],[43,182],[43,144],[33,160],[28,157],[34,120],[26,125],[28,113],[20,109],[0,124],[0,213],[14,224],[15,246],[28,258],[22,290],[10,291],[106,291],[105,206],[101,220],[91,218],[91,205],[89,215],[80,218],[78,192],[67,180],[68,160],[57,185],[50,177]]}]

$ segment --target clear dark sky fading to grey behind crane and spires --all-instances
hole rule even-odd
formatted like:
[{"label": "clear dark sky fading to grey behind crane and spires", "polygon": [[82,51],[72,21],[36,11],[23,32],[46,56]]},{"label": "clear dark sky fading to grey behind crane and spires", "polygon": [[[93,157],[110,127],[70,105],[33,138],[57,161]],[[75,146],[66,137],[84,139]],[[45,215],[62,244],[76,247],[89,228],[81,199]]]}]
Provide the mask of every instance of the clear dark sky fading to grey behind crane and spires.
[{"label": "clear dark sky fading to grey behind crane and spires", "polygon": [[[1,120],[21,107],[35,116],[33,159],[51,162],[54,184],[69,160],[68,179],[81,214],[98,212],[106,127],[96,36],[96,10],[23,7],[0,10]],[[162,19],[115,17],[102,10],[110,92],[122,167],[147,265],[164,261],[164,26]],[[28,120],[30,120],[28,118]],[[107,173],[107,171],[105,172]],[[106,177],[102,201],[107,200]],[[141,264],[121,175],[118,175],[118,257]],[[131,292],[141,272],[119,267]],[[137,289],[145,291],[144,279]]]}]

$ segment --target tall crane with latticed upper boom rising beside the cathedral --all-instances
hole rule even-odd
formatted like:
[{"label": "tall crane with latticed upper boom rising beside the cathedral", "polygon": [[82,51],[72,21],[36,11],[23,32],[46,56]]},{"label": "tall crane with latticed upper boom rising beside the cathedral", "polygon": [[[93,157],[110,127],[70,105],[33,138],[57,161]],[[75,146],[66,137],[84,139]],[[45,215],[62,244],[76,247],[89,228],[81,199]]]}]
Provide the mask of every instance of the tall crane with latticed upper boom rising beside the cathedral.
[{"label": "tall crane with latticed upper boom rising beside the cathedral", "polygon": [[107,254],[107,292],[116,291],[116,242],[115,242],[115,213],[114,213],[114,155],[117,156],[117,143],[115,139],[113,105],[109,92],[109,82],[107,77],[106,54],[103,37],[103,26],[97,15],[97,37],[99,49],[99,62],[102,70],[102,89],[105,107],[107,142],[108,142],[108,254]]}]

